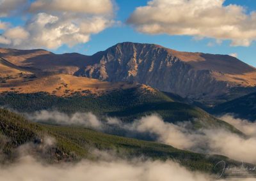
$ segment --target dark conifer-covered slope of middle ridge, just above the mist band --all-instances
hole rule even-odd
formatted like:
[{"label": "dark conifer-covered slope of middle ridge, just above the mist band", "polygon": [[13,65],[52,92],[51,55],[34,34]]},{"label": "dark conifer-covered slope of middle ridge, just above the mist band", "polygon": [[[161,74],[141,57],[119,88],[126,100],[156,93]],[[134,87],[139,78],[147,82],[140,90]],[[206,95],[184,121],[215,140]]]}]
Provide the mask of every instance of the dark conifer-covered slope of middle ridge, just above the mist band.
[{"label": "dark conifer-covered slope of middle ridge, just above the mist band", "polygon": [[0,106],[19,112],[58,110],[65,113],[92,112],[104,119],[117,117],[124,122],[132,122],[145,115],[157,113],[166,122],[191,121],[193,129],[201,127],[226,128],[241,134],[236,128],[218,120],[196,106],[176,102],[170,95],[159,92],[146,85],[136,85],[127,89],[114,89],[100,94],[70,94],[56,96],[47,92],[20,94],[5,92],[0,94]]}]

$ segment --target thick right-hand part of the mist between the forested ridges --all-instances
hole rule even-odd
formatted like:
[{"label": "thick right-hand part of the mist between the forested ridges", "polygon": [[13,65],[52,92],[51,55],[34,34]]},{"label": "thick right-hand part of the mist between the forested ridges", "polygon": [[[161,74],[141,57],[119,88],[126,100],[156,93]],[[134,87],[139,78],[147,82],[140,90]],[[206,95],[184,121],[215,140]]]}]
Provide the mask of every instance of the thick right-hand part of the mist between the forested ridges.
[{"label": "thick right-hand part of the mist between the forested ridges", "polygon": [[[239,122],[239,123],[237,123]],[[249,138],[243,138],[225,129],[200,129],[193,131],[190,122],[172,124],[164,122],[157,115],[143,117],[135,121],[132,126],[125,125],[126,129],[141,133],[156,134],[161,143],[172,145],[176,148],[220,154],[237,161],[256,163],[256,124],[243,124],[239,120],[234,124],[237,128],[243,127],[244,133],[250,133]],[[253,128],[250,128],[253,127]]]}]

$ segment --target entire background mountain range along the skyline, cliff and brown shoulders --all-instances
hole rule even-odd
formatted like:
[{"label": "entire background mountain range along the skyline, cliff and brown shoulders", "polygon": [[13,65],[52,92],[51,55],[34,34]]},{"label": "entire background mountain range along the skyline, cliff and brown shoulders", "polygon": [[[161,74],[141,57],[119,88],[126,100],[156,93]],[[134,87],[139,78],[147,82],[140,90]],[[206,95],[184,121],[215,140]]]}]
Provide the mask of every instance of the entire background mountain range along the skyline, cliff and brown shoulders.
[{"label": "entire background mountain range along the skyline, cliff and brown shoulders", "polygon": [[235,57],[178,52],[154,44],[118,43],[92,56],[1,48],[0,57],[37,72],[143,83],[208,106],[256,91],[256,69]]}]

